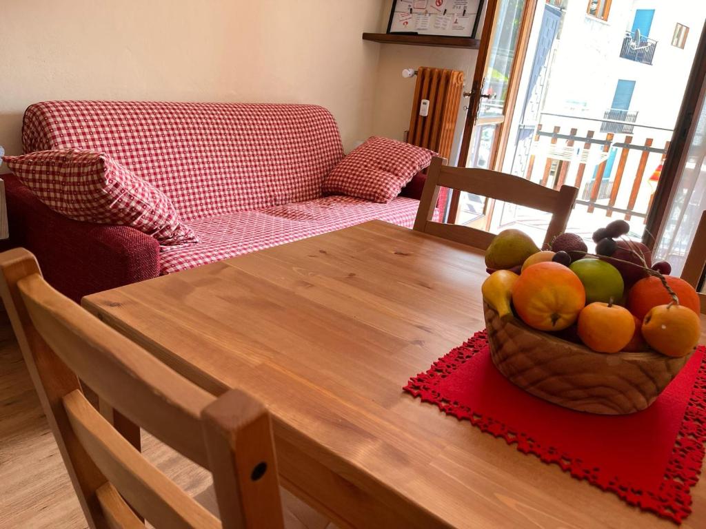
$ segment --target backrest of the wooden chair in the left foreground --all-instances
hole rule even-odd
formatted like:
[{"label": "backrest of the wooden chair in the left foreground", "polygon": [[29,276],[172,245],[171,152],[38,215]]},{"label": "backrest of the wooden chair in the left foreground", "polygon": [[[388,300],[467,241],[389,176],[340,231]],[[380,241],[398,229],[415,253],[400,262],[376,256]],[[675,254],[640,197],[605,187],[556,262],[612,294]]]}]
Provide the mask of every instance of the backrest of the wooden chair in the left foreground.
[{"label": "backrest of the wooden chair in the left foreground", "polygon": [[[24,249],[0,254],[0,293],[91,528],[281,528],[270,415],[219,398],[62,296]],[[220,521],[91,406],[88,384],[128,420],[213,474]]]}]

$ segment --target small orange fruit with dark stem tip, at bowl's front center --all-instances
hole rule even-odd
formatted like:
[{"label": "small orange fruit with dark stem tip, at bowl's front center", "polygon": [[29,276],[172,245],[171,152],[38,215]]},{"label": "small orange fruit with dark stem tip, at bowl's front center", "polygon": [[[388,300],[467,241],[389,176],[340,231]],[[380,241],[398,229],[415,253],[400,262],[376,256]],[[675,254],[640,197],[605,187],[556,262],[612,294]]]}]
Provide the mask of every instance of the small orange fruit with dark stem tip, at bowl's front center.
[{"label": "small orange fruit with dark stem tip, at bowl's front center", "polygon": [[620,305],[591,303],[578,316],[578,336],[598,353],[617,353],[635,334],[635,318]]}]

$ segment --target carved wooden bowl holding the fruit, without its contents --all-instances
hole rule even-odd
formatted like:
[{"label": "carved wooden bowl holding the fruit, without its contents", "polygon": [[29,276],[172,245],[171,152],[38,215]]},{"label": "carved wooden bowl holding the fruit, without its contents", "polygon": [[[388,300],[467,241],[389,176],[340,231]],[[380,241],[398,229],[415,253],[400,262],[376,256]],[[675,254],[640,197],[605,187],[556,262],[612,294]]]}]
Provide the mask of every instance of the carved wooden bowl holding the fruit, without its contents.
[{"label": "carved wooden bowl holding the fruit, without its contents", "polygon": [[644,410],[691,356],[596,353],[517,318],[503,322],[485,301],[483,306],[491,358],[503,376],[534,396],[573,410],[603,415]]}]

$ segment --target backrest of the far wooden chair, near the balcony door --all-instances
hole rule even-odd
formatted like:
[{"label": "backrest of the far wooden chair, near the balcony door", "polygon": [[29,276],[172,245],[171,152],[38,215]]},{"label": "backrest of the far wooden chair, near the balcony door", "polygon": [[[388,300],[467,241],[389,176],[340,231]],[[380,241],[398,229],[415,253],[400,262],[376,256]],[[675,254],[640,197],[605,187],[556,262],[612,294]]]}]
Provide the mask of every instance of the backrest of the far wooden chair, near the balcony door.
[{"label": "backrest of the far wooden chair, near the balcony door", "polygon": [[460,226],[458,224],[443,224],[432,221],[434,207],[439,188],[451,188],[483,197],[512,202],[513,204],[532,207],[552,214],[549,228],[546,230],[544,244],[552,240],[564,229],[568,222],[571,208],[578,194],[578,189],[572,186],[561,186],[558,191],[545,188],[524,178],[488,169],[466,169],[465,167],[450,167],[443,164],[443,159],[431,159],[427,171],[424,191],[419,201],[417,219],[414,229],[431,235],[448,238],[452,241],[471,245],[485,250],[495,238],[493,233]]}]

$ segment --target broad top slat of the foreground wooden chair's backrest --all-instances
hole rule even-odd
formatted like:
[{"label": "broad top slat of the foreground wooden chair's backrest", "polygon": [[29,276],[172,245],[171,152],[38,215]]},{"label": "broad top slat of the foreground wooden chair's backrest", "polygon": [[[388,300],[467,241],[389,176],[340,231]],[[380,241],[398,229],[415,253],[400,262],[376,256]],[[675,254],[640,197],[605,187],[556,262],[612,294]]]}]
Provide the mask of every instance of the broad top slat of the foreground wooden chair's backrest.
[{"label": "broad top slat of the foreground wooden chair's backrest", "polygon": [[35,327],[64,363],[128,419],[192,461],[208,468],[201,436],[201,410],[213,395],[169,369],[152,355],[68,298],[53,296],[39,274],[18,281]]}]

